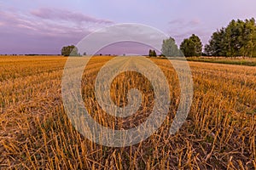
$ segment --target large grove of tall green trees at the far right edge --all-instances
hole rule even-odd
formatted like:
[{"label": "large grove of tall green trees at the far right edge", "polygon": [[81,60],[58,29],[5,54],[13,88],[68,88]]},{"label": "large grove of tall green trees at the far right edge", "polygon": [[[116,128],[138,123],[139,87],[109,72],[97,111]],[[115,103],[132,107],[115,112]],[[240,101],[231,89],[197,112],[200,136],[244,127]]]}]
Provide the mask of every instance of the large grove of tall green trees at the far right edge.
[{"label": "large grove of tall green trees at the far right edge", "polygon": [[205,47],[210,56],[256,57],[256,24],[250,20],[232,20],[212,34]]}]

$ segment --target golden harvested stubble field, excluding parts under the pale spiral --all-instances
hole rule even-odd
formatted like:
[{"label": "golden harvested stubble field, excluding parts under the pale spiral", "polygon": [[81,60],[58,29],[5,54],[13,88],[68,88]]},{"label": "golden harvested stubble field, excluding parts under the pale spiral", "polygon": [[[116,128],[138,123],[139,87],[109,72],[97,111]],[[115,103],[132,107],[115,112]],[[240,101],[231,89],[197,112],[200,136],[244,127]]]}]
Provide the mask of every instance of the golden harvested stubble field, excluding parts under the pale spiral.
[{"label": "golden harvested stubble field, excluding parts under the pale spiral", "polygon": [[[116,77],[113,101],[123,105],[125,88],[138,87],[143,90],[143,107],[127,119],[108,116],[96,104],[93,83],[109,59],[94,57],[87,65],[87,83],[82,87],[85,106],[106,127],[136,126],[152,109],[150,83],[134,72]],[[169,116],[158,132],[140,144],[110,148],[84,139],[68,121],[61,100],[66,60],[61,56],[0,56],[0,168],[256,168],[256,67],[190,62],[193,104],[183,127],[169,136],[179,102],[177,75],[168,60],[152,59],[170,83]]]}]

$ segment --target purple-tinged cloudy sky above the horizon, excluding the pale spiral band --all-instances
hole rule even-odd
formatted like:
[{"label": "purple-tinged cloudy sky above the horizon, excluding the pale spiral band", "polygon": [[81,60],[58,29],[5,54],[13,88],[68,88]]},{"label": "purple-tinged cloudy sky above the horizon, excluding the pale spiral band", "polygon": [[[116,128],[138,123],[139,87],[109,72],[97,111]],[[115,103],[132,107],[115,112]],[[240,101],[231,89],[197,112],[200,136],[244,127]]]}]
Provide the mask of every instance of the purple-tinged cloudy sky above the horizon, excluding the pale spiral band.
[{"label": "purple-tinged cloudy sky above the horizon, excluding the pale spiral band", "polygon": [[[255,0],[0,0],[0,54],[60,54],[63,46],[121,23],[152,26],[177,45],[195,33],[206,44],[230,20],[256,18],[255,7]],[[108,53],[122,53],[118,46]]]}]

